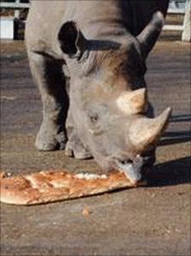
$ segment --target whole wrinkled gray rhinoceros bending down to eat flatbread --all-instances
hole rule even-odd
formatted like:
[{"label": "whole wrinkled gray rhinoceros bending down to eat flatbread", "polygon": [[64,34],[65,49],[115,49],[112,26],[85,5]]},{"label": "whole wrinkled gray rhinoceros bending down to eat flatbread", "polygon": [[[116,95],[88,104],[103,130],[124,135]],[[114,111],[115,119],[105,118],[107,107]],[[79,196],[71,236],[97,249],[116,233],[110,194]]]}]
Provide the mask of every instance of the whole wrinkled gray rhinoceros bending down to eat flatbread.
[{"label": "whole wrinkled gray rhinoceros bending down to eat flatbread", "polygon": [[146,117],[150,104],[130,113],[128,100],[125,107],[118,99],[145,87],[145,60],[167,5],[161,0],[32,1],[26,46],[43,101],[39,150],[66,147],[67,155],[93,156],[103,170],[122,170],[133,183],[142,179],[170,110],[155,125]]}]

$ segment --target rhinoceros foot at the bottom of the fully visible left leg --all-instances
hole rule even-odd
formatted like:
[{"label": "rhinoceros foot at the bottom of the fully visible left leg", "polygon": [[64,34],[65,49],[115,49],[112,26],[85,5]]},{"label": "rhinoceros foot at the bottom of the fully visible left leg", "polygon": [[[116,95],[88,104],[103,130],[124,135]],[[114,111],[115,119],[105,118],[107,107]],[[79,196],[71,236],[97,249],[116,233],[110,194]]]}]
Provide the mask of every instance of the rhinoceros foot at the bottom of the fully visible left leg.
[{"label": "rhinoceros foot at the bottom of the fully visible left leg", "polygon": [[66,142],[67,139],[64,132],[60,131],[58,127],[42,123],[35,141],[35,146],[40,151],[64,150]]}]

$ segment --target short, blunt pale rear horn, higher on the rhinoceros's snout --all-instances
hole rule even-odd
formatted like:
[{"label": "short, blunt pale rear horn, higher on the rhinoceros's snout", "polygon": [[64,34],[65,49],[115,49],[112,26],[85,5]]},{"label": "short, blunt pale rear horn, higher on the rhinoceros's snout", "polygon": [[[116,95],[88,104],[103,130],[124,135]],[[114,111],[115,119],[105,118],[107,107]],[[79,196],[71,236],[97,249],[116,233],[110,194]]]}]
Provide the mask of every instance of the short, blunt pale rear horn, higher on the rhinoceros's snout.
[{"label": "short, blunt pale rear horn, higher on the rhinoceros's snout", "polygon": [[116,104],[124,114],[132,115],[142,113],[146,110],[147,93],[146,88],[131,92],[123,92],[116,100]]}]

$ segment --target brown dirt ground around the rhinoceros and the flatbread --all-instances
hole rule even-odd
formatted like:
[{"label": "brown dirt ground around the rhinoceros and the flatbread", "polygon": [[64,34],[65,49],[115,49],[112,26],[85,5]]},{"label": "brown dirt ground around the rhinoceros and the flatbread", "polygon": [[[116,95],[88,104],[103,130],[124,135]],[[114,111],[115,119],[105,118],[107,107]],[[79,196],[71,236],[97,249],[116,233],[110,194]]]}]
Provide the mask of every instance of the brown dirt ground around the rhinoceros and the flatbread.
[{"label": "brown dirt ground around the rhinoceros and the flatbread", "polygon": [[[190,255],[190,44],[159,42],[148,58],[156,113],[171,106],[148,187],[49,205],[1,205],[1,255]],[[41,102],[22,41],[1,44],[1,170],[98,170],[38,152]],[[82,211],[89,207],[90,216]]]}]

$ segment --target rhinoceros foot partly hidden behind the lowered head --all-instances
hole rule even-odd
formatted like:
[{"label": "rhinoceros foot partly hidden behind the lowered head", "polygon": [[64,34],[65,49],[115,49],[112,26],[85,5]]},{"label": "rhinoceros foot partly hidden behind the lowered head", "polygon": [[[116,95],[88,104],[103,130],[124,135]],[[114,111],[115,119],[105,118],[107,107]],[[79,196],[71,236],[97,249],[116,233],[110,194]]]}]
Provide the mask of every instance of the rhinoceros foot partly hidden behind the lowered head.
[{"label": "rhinoceros foot partly hidden behind the lowered head", "polygon": [[84,147],[76,135],[71,135],[67,141],[65,153],[70,158],[88,159],[92,158],[91,153]]}]

